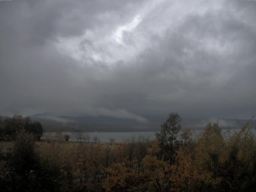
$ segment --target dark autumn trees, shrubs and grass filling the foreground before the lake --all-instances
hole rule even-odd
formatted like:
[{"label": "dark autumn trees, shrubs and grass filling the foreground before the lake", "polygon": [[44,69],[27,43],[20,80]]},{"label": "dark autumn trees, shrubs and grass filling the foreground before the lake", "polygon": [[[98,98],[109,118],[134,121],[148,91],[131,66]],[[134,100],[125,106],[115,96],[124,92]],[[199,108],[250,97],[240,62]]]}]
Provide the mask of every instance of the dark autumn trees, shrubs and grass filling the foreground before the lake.
[{"label": "dark autumn trees, shrubs and grass filling the foreground before the lake", "polygon": [[210,123],[196,139],[184,130],[177,140],[180,121],[171,113],[154,142],[140,138],[109,146],[36,142],[33,132],[17,128],[12,149],[0,155],[0,191],[255,191],[250,122],[235,134]]}]

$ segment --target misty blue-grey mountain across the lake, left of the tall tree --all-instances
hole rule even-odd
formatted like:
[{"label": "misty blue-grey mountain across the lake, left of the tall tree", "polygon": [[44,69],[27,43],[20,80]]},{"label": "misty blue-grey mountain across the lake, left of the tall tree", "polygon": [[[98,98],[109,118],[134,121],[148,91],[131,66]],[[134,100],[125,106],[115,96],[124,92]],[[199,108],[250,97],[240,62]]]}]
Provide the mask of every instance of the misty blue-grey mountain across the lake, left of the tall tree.
[{"label": "misty blue-grey mountain across the lake, left of the tall tree", "polygon": [[136,120],[112,118],[106,116],[48,116],[46,114],[36,114],[30,116],[32,120],[38,120],[47,131],[58,129],[70,131],[75,128],[87,132],[107,131],[107,132],[126,132],[126,131],[148,131],[151,127]]}]

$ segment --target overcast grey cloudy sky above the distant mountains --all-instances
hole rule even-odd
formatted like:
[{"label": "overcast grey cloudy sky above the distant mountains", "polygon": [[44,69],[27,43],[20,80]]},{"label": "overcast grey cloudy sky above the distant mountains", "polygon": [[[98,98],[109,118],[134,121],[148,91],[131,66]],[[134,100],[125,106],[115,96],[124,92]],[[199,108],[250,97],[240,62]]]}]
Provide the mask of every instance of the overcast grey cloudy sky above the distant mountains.
[{"label": "overcast grey cloudy sky above the distant mountains", "polygon": [[0,1],[0,115],[256,113],[256,1]]}]

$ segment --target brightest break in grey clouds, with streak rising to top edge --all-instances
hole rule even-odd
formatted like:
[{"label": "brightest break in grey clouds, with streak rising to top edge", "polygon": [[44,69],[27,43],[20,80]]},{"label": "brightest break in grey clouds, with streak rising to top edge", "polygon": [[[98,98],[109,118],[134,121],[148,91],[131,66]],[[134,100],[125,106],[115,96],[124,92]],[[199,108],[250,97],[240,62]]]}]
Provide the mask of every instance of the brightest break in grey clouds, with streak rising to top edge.
[{"label": "brightest break in grey clouds, with streak rising to top edge", "polygon": [[[148,46],[147,37],[137,27],[160,2],[162,1],[148,2],[126,24],[110,26],[105,31],[104,26],[85,30],[82,36],[59,37],[55,46],[59,52],[68,54],[80,64],[93,66],[95,62],[101,62],[107,66],[115,66],[119,61],[128,63]],[[124,40],[127,38],[124,33],[128,34],[129,40]]]}]

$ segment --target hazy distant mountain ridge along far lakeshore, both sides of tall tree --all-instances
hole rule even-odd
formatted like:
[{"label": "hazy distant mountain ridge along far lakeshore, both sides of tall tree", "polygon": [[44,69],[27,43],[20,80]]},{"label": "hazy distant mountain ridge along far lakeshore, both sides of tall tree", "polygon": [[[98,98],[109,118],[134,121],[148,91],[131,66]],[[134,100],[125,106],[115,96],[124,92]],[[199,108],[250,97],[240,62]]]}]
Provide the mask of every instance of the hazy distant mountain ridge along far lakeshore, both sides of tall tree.
[{"label": "hazy distant mountain ridge along far lakeshore, both sides of tall tree", "polygon": [[[1,120],[10,117],[0,116]],[[136,132],[159,131],[160,125],[165,121],[164,117],[148,116],[148,122],[142,123],[132,119],[114,118],[108,116],[51,116],[49,114],[35,114],[30,116],[32,121],[39,121],[45,132],[72,131],[76,128],[84,132]],[[241,128],[248,120],[236,120],[229,118],[183,118],[182,128],[202,130],[208,122],[218,120],[220,128]],[[252,121],[256,124],[256,120]]]}]

